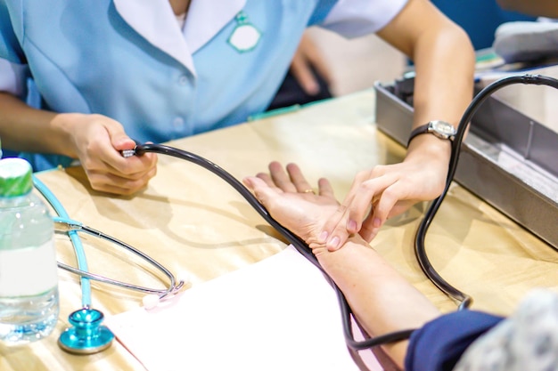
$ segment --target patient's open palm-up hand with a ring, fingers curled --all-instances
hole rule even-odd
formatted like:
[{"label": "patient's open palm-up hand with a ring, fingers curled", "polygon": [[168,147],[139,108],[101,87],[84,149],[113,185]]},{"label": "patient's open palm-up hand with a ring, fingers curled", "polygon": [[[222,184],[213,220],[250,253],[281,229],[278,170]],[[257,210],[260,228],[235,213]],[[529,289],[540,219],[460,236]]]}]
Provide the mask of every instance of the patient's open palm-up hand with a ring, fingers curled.
[{"label": "patient's open palm-up hand with a ring, fingers curled", "polygon": [[287,165],[285,172],[281,164],[272,162],[269,174],[258,173],[243,181],[275,221],[310,247],[316,246],[317,233],[339,206],[329,181],[320,179],[315,194],[298,165]]}]

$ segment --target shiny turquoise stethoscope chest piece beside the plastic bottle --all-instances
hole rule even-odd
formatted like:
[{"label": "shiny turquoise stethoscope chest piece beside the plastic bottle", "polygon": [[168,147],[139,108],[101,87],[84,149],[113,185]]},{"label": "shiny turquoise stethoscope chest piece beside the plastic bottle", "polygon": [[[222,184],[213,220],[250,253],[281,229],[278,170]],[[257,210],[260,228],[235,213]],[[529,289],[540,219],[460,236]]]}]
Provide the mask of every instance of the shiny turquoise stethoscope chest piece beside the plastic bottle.
[{"label": "shiny turquoise stethoscope chest piece beside the plastic bottle", "polygon": [[74,354],[93,354],[111,346],[114,335],[102,326],[101,311],[83,308],[70,314],[68,320],[72,327],[60,335],[58,345],[64,351]]}]

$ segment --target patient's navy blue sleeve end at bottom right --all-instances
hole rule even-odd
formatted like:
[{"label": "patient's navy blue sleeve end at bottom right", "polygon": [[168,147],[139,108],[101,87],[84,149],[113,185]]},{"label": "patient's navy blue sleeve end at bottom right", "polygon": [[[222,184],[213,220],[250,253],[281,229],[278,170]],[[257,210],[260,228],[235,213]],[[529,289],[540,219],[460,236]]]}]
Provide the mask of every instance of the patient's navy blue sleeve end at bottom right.
[{"label": "patient's navy blue sleeve end at bottom right", "polygon": [[503,318],[480,311],[455,311],[414,331],[406,371],[451,371],[467,347]]}]

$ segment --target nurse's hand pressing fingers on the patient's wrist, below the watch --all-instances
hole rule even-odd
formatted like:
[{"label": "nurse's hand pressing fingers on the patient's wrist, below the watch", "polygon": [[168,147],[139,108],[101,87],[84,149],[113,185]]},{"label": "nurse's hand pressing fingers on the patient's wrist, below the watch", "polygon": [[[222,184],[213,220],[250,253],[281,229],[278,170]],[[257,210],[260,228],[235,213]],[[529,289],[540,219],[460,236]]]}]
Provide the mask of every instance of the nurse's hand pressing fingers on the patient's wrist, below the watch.
[{"label": "nurse's hand pressing fingers on the patient's wrist, below the watch", "polygon": [[437,198],[446,185],[449,150],[448,141],[420,135],[403,162],[357,173],[347,197],[325,222],[320,242],[330,251],[343,246],[353,233],[370,242],[390,217]]}]

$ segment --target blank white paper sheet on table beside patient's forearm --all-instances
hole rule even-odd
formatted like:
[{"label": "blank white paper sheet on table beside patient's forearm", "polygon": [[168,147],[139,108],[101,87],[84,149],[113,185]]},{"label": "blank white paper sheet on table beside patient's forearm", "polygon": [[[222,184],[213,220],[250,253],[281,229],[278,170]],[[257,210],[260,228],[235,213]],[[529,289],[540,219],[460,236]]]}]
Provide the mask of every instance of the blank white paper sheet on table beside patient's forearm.
[{"label": "blank white paper sheet on table beside patient's forearm", "polygon": [[106,320],[150,371],[382,370],[371,351],[357,366],[332,286],[292,246],[162,304]]}]

